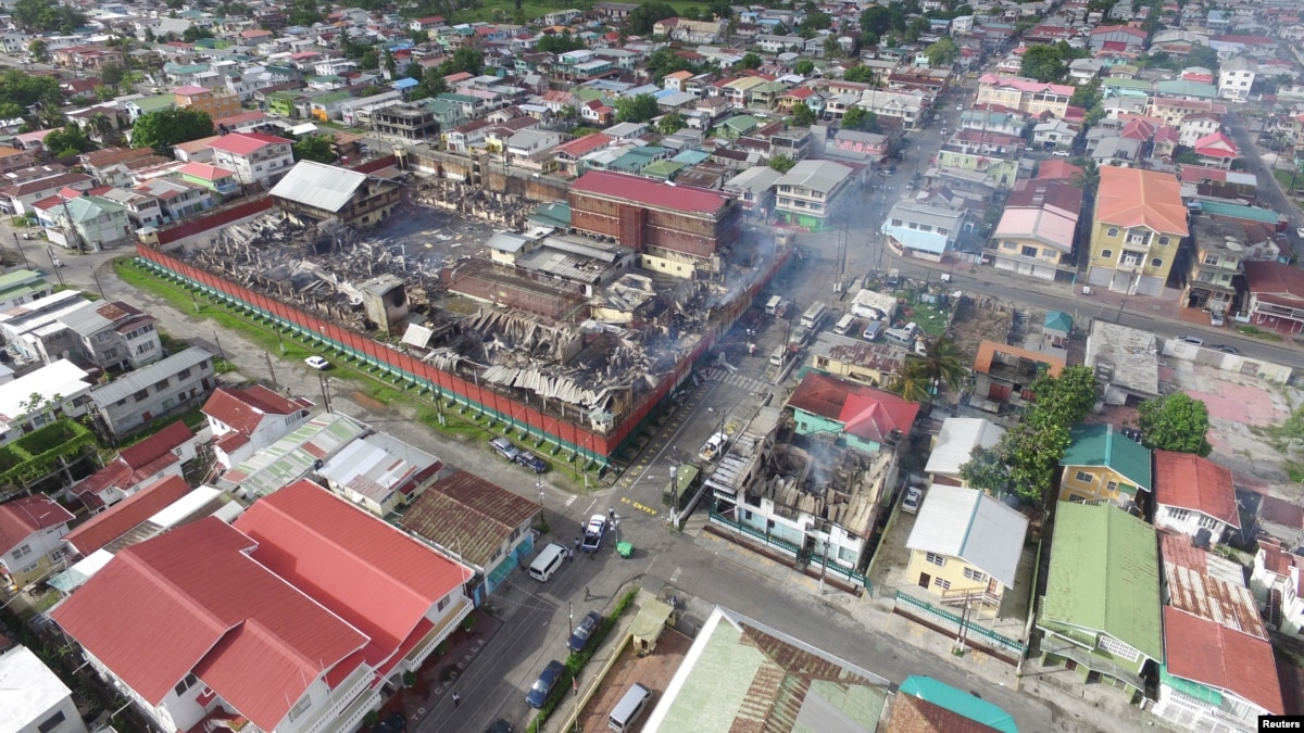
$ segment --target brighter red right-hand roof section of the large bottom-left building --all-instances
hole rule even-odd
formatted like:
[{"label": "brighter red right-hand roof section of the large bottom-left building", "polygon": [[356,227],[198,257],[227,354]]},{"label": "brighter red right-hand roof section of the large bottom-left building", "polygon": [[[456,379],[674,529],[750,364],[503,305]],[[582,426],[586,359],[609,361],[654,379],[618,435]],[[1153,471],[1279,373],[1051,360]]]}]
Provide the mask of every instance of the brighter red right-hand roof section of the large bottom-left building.
[{"label": "brighter red right-hand roof section of the large bottom-left building", "polygon": [[300,480],[254,502],[235,522],[258,541],[254,560],[370,636],[366,661],[393,656],[469,571],[331,494]]}]

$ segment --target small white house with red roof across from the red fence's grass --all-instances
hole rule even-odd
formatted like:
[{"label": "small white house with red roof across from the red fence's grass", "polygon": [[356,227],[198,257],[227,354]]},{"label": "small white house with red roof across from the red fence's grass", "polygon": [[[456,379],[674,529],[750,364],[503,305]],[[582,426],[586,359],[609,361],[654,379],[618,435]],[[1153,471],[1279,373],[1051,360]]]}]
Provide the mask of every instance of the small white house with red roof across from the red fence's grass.
[{"label": "small white house with red roof across from the red fence's grass", "polygon": [[203,403],[213,433],[213,454],[230,470],[308,421],[313,403],[288,398],[262,385],[218,387]]}]

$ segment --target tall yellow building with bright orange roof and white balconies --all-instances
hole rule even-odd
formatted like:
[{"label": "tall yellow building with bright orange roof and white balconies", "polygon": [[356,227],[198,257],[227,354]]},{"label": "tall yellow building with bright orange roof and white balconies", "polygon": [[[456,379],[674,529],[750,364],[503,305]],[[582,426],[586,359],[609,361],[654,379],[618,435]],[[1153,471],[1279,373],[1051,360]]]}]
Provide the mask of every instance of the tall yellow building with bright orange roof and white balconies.
[{"label": "tall yellow building with bright orange roof and white balconies", "polygon": [[1102,166],[1086,284],[1128,295],[1163,295],[1178,247],[1189,233],[1181,184],[1172,173]]}]

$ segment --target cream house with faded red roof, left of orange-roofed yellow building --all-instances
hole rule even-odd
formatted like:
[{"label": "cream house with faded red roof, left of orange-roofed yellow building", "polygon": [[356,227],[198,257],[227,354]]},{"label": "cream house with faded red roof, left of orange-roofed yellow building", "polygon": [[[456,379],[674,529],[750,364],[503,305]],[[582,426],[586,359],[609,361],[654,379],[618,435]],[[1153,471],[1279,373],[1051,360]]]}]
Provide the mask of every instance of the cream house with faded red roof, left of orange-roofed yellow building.
[{"label": "cream house with faded red roof, left of orange-roofed yellow building", "polygon": [[1081,209],[1082,189],[1068,181],[1015,181],[1005,211],[987,240],[986,254],[998,270],[1043,280],[1074,271],[1069,262]]}]

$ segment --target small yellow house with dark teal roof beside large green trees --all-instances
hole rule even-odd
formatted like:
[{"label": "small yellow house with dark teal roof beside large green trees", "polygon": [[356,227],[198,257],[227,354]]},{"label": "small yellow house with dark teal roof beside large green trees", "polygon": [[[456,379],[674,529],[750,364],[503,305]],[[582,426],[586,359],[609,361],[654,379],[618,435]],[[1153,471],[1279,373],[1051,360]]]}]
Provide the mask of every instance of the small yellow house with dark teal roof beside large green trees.
[{"label": "small yellow house with dark teal roof beside large green trees", "polygon": [[1069,438],[1059,501],[1136,503],[1137,489],[1151,490],[1150,449],[1114,425],[1076,425]]}]

